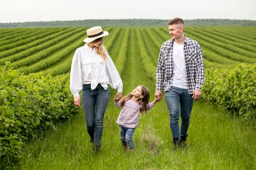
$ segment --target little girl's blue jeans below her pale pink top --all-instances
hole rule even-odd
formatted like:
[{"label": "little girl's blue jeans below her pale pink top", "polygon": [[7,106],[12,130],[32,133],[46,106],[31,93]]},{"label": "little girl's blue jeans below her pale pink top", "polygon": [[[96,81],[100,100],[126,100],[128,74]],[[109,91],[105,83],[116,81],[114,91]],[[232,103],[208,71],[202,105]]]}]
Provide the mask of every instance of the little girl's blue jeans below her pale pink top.
[{"label": "little girl's blue jeans below her pale pink top", "polygon": [[135,148],[134,142],[132,140],[132,135],[134,134],[135,128],[126,128],[119,125],[119,129],[122,145],[126,146],[128,144],[130,149]]}]

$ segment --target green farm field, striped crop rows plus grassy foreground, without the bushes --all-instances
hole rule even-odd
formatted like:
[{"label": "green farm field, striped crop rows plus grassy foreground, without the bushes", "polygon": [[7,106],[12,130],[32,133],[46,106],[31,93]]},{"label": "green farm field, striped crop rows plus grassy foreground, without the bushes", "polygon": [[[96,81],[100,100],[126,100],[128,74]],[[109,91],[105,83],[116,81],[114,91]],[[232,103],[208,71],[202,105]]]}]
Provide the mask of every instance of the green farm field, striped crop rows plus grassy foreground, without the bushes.
[{"label": "green farm field, striped crop rows plus grassy foreground, without the bushes", "polygon": [[[89,28],[89,27],[88,27]],[[0,29],[0,65],[11,61],[25,74],[69,76],[74,51],[83,46],[87,27]],[[245,33],[238,37],[243,29]],[[103,27],[110,35],[104,45],[124,83],[123,96],[139,84],[155,94],[155,69],[162,43],[171,38],[166,27]],[[255,27],[185,28],[202,46],[205,68],[234,68],[256,63]],[[227,110],[203,100],[195,102],[188,147],[173,151],[165,100],[140,117],[136,150],[124,153],[115,123],[120,109],[112,102],[104,119],[102,153],[92,154],[83,113],[61,122],[57,130],[35,136],[23,151],[16,170],[253,170],[256,165],[254,122],[232,117]],[[203,95],[203,94],[202,94]]]}]

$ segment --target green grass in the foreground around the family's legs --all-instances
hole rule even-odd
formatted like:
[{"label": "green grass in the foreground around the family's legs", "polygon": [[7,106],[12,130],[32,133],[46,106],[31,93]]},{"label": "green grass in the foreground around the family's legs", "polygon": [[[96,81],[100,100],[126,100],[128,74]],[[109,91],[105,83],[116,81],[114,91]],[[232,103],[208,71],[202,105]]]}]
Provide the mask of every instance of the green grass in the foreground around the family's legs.
[{"label": "green grass in the foreground around the family's legs", "polygon": [[112,101],[105,115],[102,152],[95,156],[83,113],[25,146],[19,170],[251,170],[256,165],[255,124],[225,110],[195,102],[184,150],[173,151],[165,102],[141,115],[136,150],[125,153]]}]

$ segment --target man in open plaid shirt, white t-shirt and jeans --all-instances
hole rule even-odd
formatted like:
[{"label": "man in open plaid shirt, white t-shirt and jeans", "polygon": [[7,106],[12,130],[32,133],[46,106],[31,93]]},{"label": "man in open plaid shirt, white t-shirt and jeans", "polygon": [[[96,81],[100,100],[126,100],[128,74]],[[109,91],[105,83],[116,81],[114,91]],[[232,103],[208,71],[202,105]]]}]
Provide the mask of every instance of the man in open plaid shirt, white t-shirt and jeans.
[{"label": "man in open plaid shirt, white t-shirt and jeans", "polygon": [[164,42],[159,52],[155,97],[162,99],[163,88],[176,150],[177,146],[185,146],[193,102],[201,97],[205,76],[202,49],[184,35],[183,20],[170,20],[168,29],[172,39]]}]

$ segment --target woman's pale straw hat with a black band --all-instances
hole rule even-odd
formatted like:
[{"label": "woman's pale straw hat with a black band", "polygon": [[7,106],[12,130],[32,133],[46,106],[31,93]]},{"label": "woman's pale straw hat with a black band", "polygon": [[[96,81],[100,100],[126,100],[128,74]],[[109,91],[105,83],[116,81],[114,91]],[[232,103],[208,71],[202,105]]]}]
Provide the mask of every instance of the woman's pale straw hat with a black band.
[{"label": "woman's pale straw hat with a black band", "polygon": [[97,38],[105,37],[108,35],[108,31],[103,31],[101,26],[94,26],[87,31],[88,38],[85,38],[84,42],[93,42]]}]

